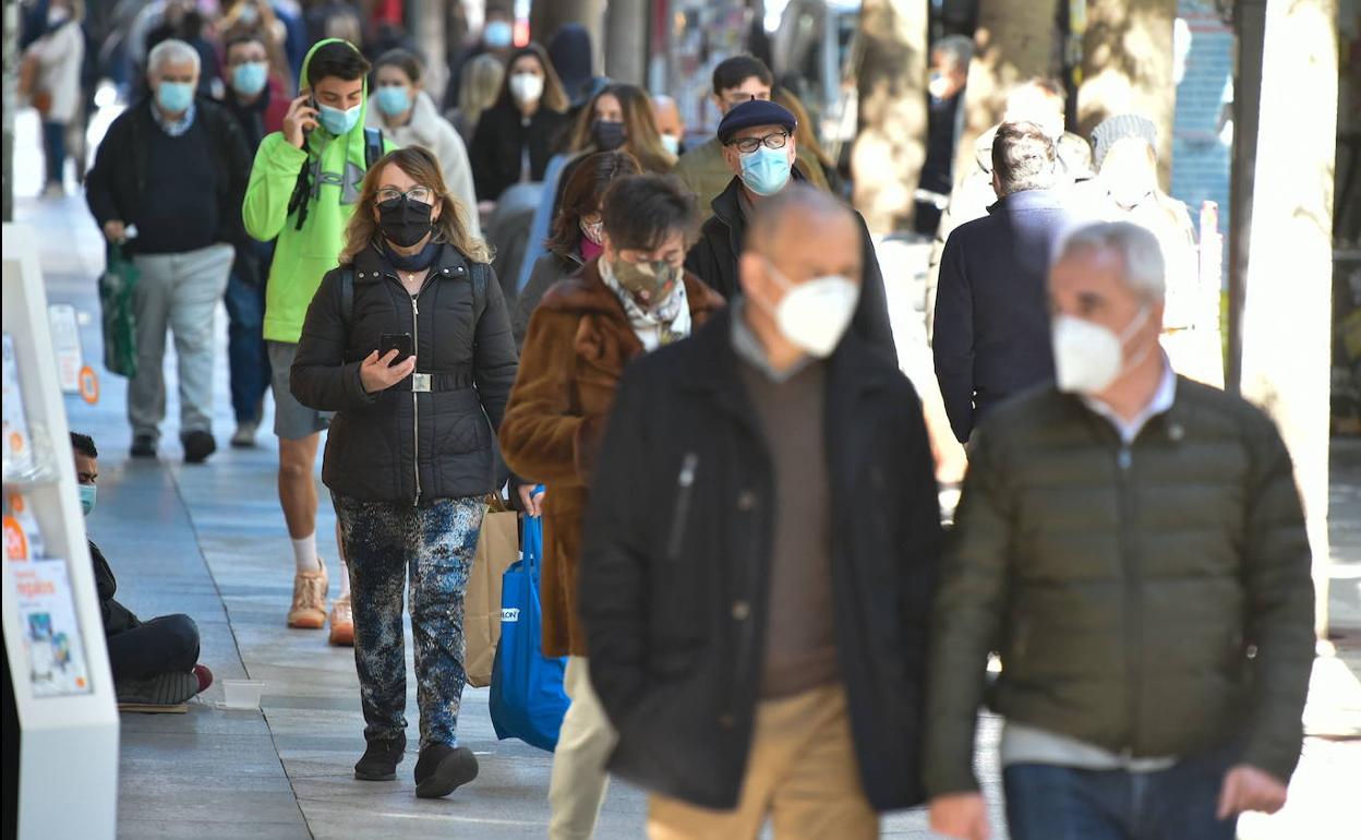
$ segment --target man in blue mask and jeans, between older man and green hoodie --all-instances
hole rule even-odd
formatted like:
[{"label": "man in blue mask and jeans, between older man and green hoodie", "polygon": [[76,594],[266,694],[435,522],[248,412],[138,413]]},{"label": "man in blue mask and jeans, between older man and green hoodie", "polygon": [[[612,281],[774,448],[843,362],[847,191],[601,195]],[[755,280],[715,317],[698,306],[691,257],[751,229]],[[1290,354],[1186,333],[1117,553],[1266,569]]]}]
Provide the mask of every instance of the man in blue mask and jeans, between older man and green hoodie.
[{"label": "man in blue mask and jeans, between older man and green hoodie", "polygon": [[[241,8],[255,8],[242,4]],[[283,128],[289,99],[271,71],[265,42],[256,34],[234,35],[223,53],[226,95],[222,103],[235,117],[245,136],[252,159],[267,135]],[[237,246],[231,276],[227,279],[227,362],[231,385],[231,411],[237,430],[231,445],[256,445],[264,395],[269,391],[269,353],[264,343],[264,287],[269,275],[274,246],[253,238]]]}]

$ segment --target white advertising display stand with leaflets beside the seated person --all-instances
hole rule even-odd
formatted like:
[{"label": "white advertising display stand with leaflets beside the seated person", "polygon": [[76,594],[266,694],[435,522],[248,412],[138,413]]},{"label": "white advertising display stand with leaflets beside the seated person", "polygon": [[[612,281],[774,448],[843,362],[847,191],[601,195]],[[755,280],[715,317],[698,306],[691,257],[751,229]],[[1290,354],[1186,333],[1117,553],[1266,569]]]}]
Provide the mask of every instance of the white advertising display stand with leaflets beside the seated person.
[{"label": "white advertising display stand with leaflets beside the seated person", "polygon": [[18,742],[20,840],[112,839],[118,711],[35,242],[4,226],[5,753]]}]

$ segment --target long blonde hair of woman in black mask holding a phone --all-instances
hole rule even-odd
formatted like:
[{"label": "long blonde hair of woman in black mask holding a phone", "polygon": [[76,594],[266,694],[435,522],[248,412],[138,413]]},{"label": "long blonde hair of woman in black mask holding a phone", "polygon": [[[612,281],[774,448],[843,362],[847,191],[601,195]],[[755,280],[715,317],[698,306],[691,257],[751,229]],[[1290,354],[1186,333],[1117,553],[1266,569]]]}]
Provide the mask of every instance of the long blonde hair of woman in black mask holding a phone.
[{"label": "long blonde hair of woman in black mask holding a phone", "polygon": [[378,230],[378,219],[374,207],[378,203],[378,187],[382,180],[382,170],[393,165],[407,173],[412,181],[425,187],[436,196],[442,210],[440,218],[434,221],[434,241],[446,242],[459,249],[463,256],[475,263],[490,263],[491,249],[483,240],[468,233],[467,215],[470,208],[459,203],[449,193],[444,176],[440,173],[440,161],[434,152],[422,146],[407,146],[382,155],[382,158],[369,167],[359,187],[359,201],[350,216],[346,227],[344,249],[340,252],[340,264],[352,265],[359,252],[370,245],[377,245],[382,240]]}]

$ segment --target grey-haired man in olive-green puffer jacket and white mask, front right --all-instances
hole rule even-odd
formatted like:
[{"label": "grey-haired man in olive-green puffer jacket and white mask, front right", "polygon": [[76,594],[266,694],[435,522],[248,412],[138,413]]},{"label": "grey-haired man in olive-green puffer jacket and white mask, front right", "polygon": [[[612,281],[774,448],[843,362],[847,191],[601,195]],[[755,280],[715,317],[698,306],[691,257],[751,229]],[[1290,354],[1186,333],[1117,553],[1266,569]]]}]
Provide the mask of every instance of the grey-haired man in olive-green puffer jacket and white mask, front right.
[{"label": "grey-haired man in olive-green puffer jacket and white mask, front right", "polygon": [[932,828],[983,840],[984,664],[1013,840],[1233,840],[1300,756],[1313,660],[1290,456],[1256,408],[1158,347],[1157,240],[1093,225],[1049,278],[1057,387],[974,437],[932,617]]}]

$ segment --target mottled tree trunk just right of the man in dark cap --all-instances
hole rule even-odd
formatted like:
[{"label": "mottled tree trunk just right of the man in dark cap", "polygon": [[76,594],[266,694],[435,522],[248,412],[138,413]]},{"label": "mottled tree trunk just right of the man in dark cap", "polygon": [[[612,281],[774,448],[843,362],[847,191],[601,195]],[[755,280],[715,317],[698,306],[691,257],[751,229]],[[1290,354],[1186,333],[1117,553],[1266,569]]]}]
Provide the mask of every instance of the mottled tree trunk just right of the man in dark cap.
[{"label": "mottled tree trunk just right of the man in dark cap", "polygon": [[927,135],[927,0],[860,5],[855,206],[879,234],[912,227]]}]

